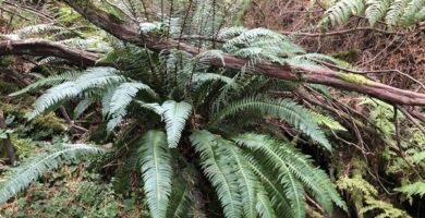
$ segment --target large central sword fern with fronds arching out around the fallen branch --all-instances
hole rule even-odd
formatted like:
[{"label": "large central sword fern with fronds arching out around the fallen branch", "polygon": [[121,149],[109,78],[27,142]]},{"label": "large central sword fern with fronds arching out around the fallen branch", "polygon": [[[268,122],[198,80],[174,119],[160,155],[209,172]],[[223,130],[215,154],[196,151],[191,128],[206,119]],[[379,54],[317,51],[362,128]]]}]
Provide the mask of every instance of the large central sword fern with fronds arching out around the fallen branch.
[{"label": "large central sword fern with fronds arching out around the fallen branch", "polygon": [[[221,50],[248,58],[251,64],[302,60],[325,68],[315,59],[335,62],[326,56],[307,56],[289,38],[264,28],[226,28],[218,37],[227,40]],[[274,47],[277,44],[281,46]],[[203,178],[224,217],[305,217],[306,195],[327,214],[333,205],[347,210],[328,175],[308,156],[258,128],[264,119],[286,123],[330,152],[319,124],[331,122],[293,100],[274,97],[274,92],[291,89],[293,84],[207,64],[220,56],[219,50],[191,57],[179,50],[154,53],[123,46],[98,61],[113,68],[40,78],[13,95],[52,86],[34,102],[29,119],[70,100],[80,101],[76,119],[84,118],[90,105],[101,105],[101,118],[118,142],[117,149],[138,150],[125,166],[138,169],[153,217],[204,214],[203,206],[191,204],[209,197],[199,194],[202,186],[193,182]],[[121,131],[116,132],[118,128]],[[125,173],[121,177],[129,179]],[[174,181],[187,192],[175,190]]]}]

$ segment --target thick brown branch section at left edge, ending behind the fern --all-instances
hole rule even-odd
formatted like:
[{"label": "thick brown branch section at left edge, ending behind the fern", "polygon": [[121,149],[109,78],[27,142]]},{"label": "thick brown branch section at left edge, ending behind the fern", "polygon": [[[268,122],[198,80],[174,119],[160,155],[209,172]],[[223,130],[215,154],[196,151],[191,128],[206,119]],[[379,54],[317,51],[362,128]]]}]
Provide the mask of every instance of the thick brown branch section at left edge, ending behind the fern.
[{"label": "thick brown branch section at left edge, ending behind the fern", "polygon": [[93,52],[41,39],[1,40],[0,56],[7,55],[52,56],[65,59],[78,66],[94,65],[100,58]]}]

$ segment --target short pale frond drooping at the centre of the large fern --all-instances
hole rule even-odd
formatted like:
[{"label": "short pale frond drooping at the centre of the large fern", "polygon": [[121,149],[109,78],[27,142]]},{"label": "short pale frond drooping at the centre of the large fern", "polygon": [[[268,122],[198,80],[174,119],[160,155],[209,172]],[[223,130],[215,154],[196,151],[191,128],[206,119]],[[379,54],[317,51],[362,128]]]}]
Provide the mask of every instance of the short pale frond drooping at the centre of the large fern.
[{"label": "short pale frond drooping at the centre of the large fern", "polygon": [[192,113],[192,105],[181,101],[167,100],[162,104],[166,120],[167,141],[170,148],[179,145],[183,129]]}]

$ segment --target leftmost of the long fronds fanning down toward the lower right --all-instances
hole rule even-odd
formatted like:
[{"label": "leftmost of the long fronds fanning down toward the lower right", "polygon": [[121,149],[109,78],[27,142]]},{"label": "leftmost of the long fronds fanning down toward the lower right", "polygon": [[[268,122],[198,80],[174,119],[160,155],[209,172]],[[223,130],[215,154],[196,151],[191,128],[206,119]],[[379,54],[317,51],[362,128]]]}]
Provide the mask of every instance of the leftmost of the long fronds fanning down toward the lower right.
[{"label": "leftmost of the long fronds fanning down toward the lower right", "polygon": [[220,160],[217,154],[216,136],[207,131],[194,131],[190,140],[196,153],[201,155],[201,166],[212,186],[216,189],[224,215],[228,218],[242,217],[241,194],[239,183],[231,168]]}]

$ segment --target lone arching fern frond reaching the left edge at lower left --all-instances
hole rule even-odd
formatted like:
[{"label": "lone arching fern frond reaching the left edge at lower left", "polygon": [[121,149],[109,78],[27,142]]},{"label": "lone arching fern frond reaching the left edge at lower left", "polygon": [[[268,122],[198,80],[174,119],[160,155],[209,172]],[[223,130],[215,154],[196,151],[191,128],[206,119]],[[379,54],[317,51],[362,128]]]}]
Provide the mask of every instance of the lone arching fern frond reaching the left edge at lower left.
[{"label": "lone arching fern frond reaching the left edge at lower left", "polygon": [[62,166],[66,160],[77,160],[82,156],[105,153],[104,148],[85,144],[62,144],[51,150],[41,152],[17,168],[12,169],[5,179],[0,181],[0,203],[5,203],[10,197],[37,180],[42,173]]}]

